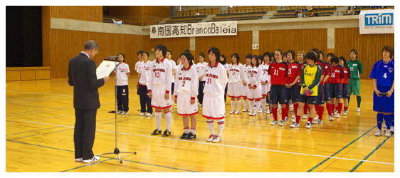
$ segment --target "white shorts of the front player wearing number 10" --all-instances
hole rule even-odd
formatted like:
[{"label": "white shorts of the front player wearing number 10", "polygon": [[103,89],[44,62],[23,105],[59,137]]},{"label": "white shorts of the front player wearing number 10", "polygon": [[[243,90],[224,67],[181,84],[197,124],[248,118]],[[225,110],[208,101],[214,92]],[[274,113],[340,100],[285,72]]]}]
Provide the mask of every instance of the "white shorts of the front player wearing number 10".
[{"label": "white shorts of the front player wearing number 10", "polygon": [[172,106],[171,93],[168,100],[165,100],[165,86],[153,85],[152,88],[152,108],[165,109]]}]

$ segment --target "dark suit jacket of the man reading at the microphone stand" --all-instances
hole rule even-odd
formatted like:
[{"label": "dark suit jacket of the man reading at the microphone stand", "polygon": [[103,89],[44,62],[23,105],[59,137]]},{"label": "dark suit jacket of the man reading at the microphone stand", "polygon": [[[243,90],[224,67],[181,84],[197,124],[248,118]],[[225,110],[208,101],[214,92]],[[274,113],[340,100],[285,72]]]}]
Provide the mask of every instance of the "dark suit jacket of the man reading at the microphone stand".
[{"label": "dark suit jacket of the man reading at the microphone stand", "polygon": [[83,110],[100,108],[98,88],[104,79],[97,78],[95,61],[85,53],[70,59],[68,64],[68,84],[73,86],[73,107]]}]

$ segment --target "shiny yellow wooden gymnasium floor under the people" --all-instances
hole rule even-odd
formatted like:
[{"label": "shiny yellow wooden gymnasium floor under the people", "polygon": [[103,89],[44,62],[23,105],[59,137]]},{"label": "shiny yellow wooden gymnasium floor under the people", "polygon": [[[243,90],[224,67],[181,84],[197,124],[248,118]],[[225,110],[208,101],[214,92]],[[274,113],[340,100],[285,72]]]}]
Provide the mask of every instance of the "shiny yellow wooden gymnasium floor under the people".
[{"label": "shiny yellow wooden gymnasium floor under the people", "polygon": [[[75,162],[73,87],[67,80],[6,82],[6,172],[394,172],[394,137],[374,137],[372,80],[361,81],[360,113],[352,96],[349,115],[330,122],[325,109],[323,124],[311,130],[305,129],[306,120],[292,129],[289,122],[271,126],[272,115],[228,115],[223,141],[210,143],[201,109],[196,140],[179,139],[183,123],[175,106],[172,137],[151,136],[154,114],[139,116],[132,75],[130,111],[118,115],[118,148],[137,155],[120,154],[122,164],[116,155],[92,164]],[[108,113],[115,110],[114,81],[99,93],[95,154],[115,149],[115,114]]]}]

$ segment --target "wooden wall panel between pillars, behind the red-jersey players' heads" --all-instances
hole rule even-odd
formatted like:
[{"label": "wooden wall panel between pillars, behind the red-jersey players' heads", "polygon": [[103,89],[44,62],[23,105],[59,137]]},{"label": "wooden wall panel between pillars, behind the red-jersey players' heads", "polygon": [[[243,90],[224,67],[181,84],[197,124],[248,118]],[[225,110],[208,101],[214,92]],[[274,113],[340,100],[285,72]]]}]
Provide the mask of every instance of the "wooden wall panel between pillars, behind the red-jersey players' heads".
[{"label": "wooden wall panel between pillars, behind the red-jersey players' heads", "polygon": [[[325,56],[327,54],[326,28],[260,31],[259,34],[260,55],[267,51],[275,52],[276,49],[307,53],[312,48],[323,51]],[[295,60],[298,61],[297,56]]]}]

